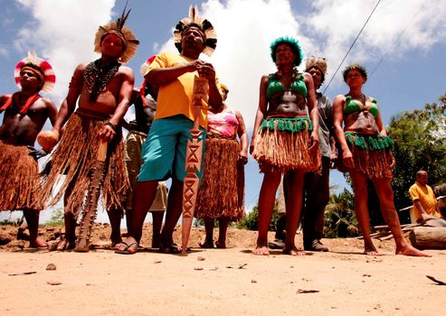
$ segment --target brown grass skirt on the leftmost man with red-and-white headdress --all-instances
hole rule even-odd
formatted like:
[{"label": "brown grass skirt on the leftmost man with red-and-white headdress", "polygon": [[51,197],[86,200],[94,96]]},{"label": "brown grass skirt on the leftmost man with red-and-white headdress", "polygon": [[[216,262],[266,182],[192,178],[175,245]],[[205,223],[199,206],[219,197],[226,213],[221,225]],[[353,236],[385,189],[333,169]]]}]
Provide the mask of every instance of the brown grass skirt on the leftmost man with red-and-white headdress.
[{"label": "brown grass skirt on the leftmost man with red-and-white headdress", "polygon": [[26,146],[0,141],[0,210],[42,210],[36,199],[39,165]]}]

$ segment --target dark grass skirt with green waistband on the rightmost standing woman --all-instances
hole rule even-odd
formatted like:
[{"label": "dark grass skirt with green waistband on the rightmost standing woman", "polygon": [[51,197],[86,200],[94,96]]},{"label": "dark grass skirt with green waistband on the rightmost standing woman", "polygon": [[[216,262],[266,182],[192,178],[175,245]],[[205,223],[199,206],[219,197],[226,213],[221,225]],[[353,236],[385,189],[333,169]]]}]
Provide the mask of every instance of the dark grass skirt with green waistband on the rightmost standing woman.
[{"label": "dark grass skirt with green waistband on the rightmost standing woman", "polygon": [[[390,168],[389,154],[394,147],[394,141],[388,136],[360,135],[354,132],[346,133],[346,143],[353,154],[354,170],[362,172],[370,179],[392,179],[394,173]],[[338,155],[337,169],[348,172],[349,169]]]}]

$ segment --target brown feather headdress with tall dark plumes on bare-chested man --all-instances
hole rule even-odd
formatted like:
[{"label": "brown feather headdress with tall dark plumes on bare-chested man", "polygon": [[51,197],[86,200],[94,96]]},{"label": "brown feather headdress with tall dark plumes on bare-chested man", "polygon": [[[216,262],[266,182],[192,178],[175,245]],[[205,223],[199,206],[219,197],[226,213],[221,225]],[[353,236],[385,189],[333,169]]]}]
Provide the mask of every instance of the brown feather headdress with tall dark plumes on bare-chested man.
[{"label": "brown feather headdress with tall dark plumes on bare-chested man", "polygon": [[133,56],[135,56],[139,44],[135,34],[127,27],[124,27],[124,24],[128,19],[128,14],[131,11],[131,9],[129,9],[126,13],[126,9],[127,4],[124,7],[121,16],[116,21],[100,26],[94,39],[94,51],[100,53],[100,43],[106,35],[115,34],[119,36],[122,42],[124,42],[124,51],[119,59],[122,62],[128,62],[128,60],[131,60]]}]

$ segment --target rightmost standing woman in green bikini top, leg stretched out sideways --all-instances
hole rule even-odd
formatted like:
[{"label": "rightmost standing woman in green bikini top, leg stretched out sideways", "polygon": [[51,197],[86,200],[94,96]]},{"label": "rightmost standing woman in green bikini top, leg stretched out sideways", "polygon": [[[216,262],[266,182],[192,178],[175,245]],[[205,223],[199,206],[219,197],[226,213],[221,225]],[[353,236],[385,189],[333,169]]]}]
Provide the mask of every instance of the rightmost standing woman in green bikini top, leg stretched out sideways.
[{"label": "rightmost standing woman in green bikini top, leg stretched out sideways", "polygon": [[367,181],[372,181],[383,217],[394,235],[395,254],[425,256],[407,243],[400,227],[391,185],[395,164],[391,151],[394,142],[385,132],[376,101],[365,97],[362,92],[367,72],[355,64],[348,66],[343,75],[350,91],[347,95],[337,96],[333,102],[333,125],[342,150],[338,169],[350,174],[355,191],[356,218],[364,237],[364,253],[370,256],[378,254],[370,236],[367,208]]}]

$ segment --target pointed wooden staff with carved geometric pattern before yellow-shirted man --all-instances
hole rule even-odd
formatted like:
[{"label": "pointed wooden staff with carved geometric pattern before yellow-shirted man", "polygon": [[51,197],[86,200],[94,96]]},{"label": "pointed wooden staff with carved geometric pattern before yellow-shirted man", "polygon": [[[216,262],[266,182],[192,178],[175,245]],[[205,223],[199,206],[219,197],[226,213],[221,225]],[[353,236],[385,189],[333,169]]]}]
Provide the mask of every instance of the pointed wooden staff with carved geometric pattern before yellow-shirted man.
[{"label": "pointed wooden staff with carved geometric pattern before yellow-shirted man", "polygon": [[194,126],[189,131],[192,140],[187,142],[185,154],[185,184],[183,187],[183,220],[181,225],[181,248],[185,255],[187,243],[192,228],[192,221],[194,219],[194,210],[196,195],[198,193],[199,178],[197,173],[202,168],[203,156],[203,140],[200,136],[203,132],[200,130],[200,112],[203,101],[207,102],[209,96],[209,85],[207,79],[195,76],[194,79],[194,94],[193,94],[193,108],[194,108]]}]

